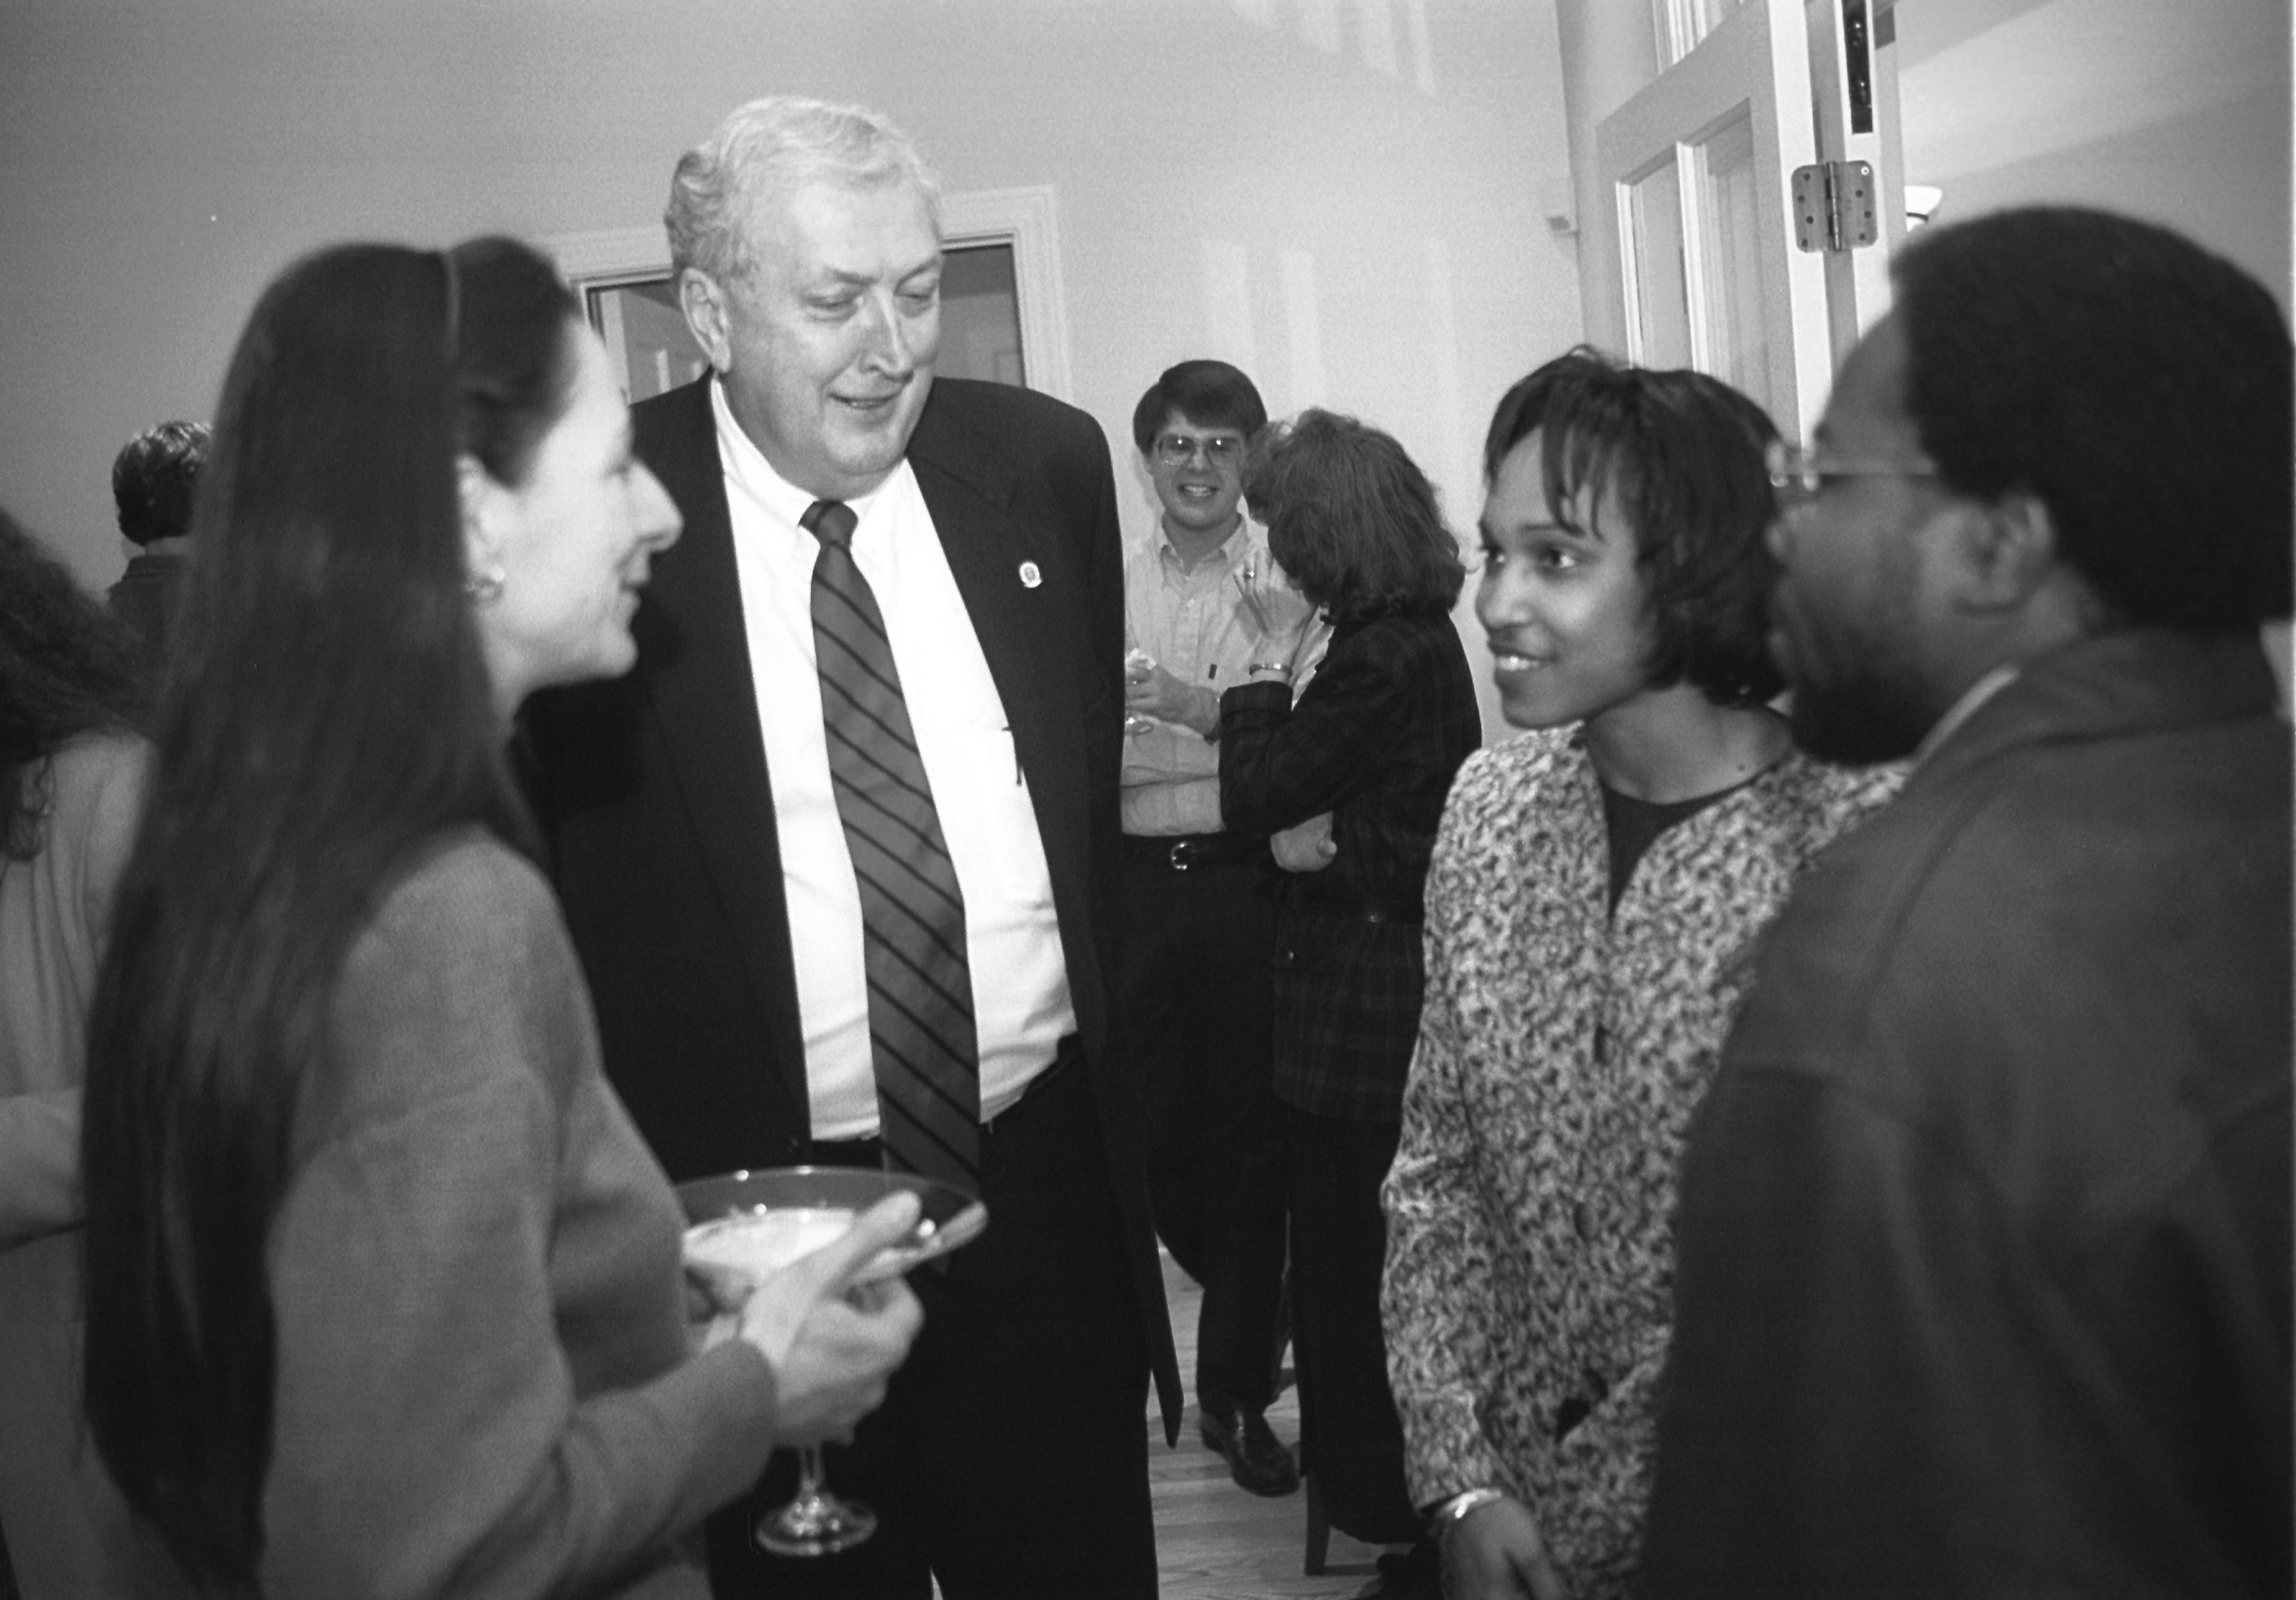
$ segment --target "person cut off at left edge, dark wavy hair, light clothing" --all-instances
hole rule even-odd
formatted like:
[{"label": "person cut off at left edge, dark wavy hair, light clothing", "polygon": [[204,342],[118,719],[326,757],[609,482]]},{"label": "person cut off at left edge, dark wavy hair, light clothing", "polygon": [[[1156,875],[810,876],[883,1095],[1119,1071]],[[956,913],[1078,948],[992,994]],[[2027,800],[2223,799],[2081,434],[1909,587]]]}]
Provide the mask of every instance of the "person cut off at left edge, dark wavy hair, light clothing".
[{"label": "person cut off at left edge, dark wavy hair, light clothing", "polygon": [[0,1529],[25,1600],[184,1591],[80,1448],[80,1070],[145,746],[131,634],[0,512]]}]

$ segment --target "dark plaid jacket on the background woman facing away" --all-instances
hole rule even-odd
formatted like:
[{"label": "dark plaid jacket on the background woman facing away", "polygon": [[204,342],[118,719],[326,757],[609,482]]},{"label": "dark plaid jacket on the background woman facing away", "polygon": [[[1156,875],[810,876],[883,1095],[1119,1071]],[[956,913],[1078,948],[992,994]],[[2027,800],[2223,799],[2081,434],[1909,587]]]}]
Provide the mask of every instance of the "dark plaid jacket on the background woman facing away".
[{"label": "dark plaid jacket on the background woman facing away", "polygon": [[1339,854],[1288,877],[1274,948],[1277,1097],[1355,1123],[1403,1116],[1419,1033],[1419,891],[1451,776],[1481,741],[1449,615],[1343,622],[1300,705],[1286,684],[1219,700],[1228,829],[1332,813]]}]

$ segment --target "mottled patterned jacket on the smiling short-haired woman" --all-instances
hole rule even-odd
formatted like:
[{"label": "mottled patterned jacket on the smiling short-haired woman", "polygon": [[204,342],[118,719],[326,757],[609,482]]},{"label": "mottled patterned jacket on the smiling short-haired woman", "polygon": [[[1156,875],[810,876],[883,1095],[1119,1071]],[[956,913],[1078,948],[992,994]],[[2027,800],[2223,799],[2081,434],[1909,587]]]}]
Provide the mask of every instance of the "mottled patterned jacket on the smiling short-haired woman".
[{"label": "mottled patterned jacket on the smiling short-haired woman", "polygon": [[1476,753],[1428,872],[1428,978],[1387,1207],[1414,1504],[1492,1485],[1580,1593],[1626,1593],[1667,1352],[1674,1171],[1750,946],[1896,769],[1789,753],[1658,836],[1609,907],[1575,732]]}]

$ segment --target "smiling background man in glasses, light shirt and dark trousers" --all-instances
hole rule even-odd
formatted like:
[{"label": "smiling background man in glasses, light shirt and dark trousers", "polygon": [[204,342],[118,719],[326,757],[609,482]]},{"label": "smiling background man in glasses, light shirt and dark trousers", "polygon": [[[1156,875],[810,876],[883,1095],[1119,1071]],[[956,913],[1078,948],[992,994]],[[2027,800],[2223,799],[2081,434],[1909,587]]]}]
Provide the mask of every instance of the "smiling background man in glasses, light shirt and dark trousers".
[{"label": "smiling background man in glasses, light shirt and dark trousers", "polygon": [[[1224,689],[1254,668],[1300,682],[1329,629],[1244,521],[1244,450],[1265,422],[1224,360],[1166,370],[1132,413],[1162,516],[1125,560],[1118,996],[1148,1095],[1157,1235],[1203,1286],[1201,1437],[1244,1490],[1290,1494],[1297,1467],[1265,1421],[1283,1343],[1272,856],[1265,836],[1224,829],[1217,737]],[[1302,852],[1302,865],[1325,859]]]}]

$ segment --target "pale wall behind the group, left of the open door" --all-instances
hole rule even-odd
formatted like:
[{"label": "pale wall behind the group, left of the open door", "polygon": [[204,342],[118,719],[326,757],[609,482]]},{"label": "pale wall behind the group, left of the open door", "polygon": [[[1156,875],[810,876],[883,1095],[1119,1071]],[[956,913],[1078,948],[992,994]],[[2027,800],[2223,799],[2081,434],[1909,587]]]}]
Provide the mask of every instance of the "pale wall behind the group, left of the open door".
[{"label": "pale wall behind the group, left of the open door", "polygon": [[1380,422],[1465,535],[1492,402],[1577,337],[1552,0],[5,0],[0,505],[110,581],[113,452],[211,413],[296,253],[647,225],[774,90],[893,112],[953,191],[1056,188],[1134,533],[1173,360]]}]

